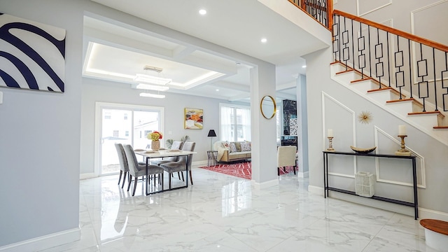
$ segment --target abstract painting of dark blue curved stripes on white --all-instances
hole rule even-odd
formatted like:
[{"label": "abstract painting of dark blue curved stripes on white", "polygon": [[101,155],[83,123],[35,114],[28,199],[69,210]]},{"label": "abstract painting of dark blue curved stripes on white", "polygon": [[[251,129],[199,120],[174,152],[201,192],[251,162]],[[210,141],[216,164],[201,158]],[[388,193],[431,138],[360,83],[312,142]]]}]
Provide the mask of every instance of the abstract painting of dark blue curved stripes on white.
[{"label": "abstract painting of dark blue curved stripes on white", "polygon": [[0,87],[64,92],[65,29],[0,13]]}]

